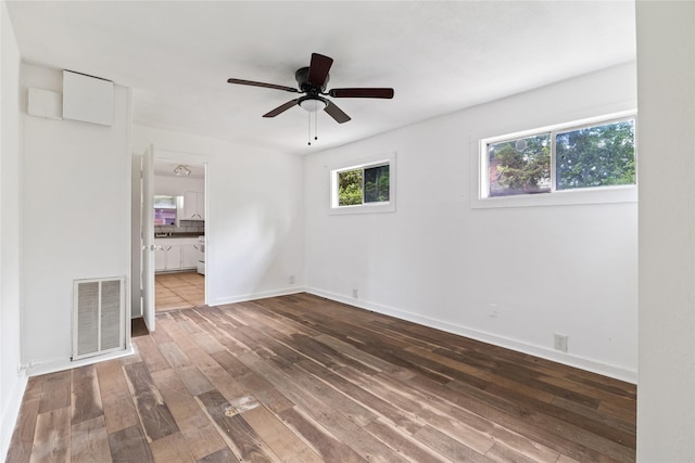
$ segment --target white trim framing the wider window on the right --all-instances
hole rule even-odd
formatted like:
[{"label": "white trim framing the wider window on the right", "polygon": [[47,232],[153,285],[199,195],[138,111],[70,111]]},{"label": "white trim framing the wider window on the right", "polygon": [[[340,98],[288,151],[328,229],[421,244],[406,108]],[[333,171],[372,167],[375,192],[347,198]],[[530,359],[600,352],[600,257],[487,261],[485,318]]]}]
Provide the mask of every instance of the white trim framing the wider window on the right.
[{"label": "white trim framing the wider window on the right", "polygon": [[[565,129],[574,129],[584,126],[592,126],[601,123],[609,124],[614,120],[627,119],[634,117],[636,120],[637,112],[635,110],[612,113],[598,117],[591,117],[580,120],[573,120],[566,124],[557,124],[553,126],[540,127],[531,130],[523,130],[514,133],[507,133],[498,137],[481,138],[478,142],[471,143],[471,150],[475,154],[471,159],[475,162],[471,166],[472,176],[471,189],[473,190],[470,197],[470,207],[473,209],[496,208],[496,207],[534,207],[534,206],[561,206],[577,204],[610,204],[610,203],[636,203],[637,185],[615,185],[615,187],[596,187],[572,190],[553,190],[549,193],[535,194],[517,194],[509,196],[488,196],[490,185],[490,176],[488,172],[488,150],[489,143],[495,143],[504,140],[513,140],[517,138],[530,137],[543,132],[557,132]],[[636,124],[636,123],[635,123]],[[635,140],[635,170],[637,165],[637,150]],[[551,159],[551,175],[555,177],[555,158]],[[636,179],[635,179],[636,180]]]}]

